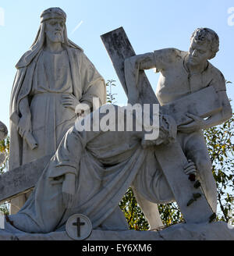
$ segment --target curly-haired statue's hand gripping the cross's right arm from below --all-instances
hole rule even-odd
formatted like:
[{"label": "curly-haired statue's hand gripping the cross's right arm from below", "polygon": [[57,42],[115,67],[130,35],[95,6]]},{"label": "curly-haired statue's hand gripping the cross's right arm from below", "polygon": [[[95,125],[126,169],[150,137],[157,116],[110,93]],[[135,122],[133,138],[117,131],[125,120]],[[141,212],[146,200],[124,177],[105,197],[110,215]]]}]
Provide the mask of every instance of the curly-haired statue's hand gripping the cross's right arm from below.
[{"label": "curly-haired statue's hand gripping the cross's right arm from below", "polygon": [[204,119],[200,118],[199,116],[194,116],[190,113],[186,114],[186,116],[190,117],[192,121],[188,124],[180,125],[177,127],[177,130],[183,133],[193,133],[197,130],[201,130],[205,126]]}]

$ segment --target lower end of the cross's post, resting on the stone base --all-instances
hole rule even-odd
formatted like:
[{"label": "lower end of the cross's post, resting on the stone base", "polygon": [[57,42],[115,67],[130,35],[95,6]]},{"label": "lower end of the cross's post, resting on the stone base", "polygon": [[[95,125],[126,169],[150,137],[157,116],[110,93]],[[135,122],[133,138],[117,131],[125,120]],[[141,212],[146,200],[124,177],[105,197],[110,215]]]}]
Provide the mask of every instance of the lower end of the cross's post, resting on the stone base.
[{"label": "lower end of the cross's post, resting on the stone base", "polygon": [[[179,143],[160,145],[155,148],[155,155],[186,222],[207,222],[213,213],[212,209],[200,187],[197,189],[193,187],[194,182],[191,182],[184,173],[183,166],[186,165],[187,159]],[[193,198],[193,194],[197,193],[201,197],[188,206],[187,204]]]}]

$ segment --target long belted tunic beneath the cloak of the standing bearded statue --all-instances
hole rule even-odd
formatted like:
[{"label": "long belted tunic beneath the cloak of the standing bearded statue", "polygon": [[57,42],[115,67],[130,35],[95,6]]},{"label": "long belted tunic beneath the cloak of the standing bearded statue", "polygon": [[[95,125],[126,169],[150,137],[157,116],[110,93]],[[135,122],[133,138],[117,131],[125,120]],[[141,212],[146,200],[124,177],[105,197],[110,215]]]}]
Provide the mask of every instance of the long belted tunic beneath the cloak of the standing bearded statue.
[{"label": "long belted tunic beneath the cloak of the standing bearded statue", "polygon": [[38,148],[30,150],[23,140],[23,163],[54,153],[66,131],[75,123],[76,114],[73,109],[62,105],[64,94],[73,94],[67,52],[64,50],[54,54],[42,51],[29,95],[32,98],[32,133],[38,141]]}]

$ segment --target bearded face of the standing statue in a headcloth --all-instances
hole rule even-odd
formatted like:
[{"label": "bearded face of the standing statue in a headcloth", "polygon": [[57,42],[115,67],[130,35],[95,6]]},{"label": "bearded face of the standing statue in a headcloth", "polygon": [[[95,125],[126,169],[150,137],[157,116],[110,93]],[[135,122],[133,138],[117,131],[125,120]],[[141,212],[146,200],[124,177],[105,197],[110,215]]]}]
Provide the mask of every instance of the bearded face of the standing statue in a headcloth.
[{"label": "bearded face of the standing statue in a headcloth", "polygon": [[45,36],[52,43],[63,43],[63,32],[65,29],[65,22],[63,19],[55,18],[47,20],[45,23]]}]

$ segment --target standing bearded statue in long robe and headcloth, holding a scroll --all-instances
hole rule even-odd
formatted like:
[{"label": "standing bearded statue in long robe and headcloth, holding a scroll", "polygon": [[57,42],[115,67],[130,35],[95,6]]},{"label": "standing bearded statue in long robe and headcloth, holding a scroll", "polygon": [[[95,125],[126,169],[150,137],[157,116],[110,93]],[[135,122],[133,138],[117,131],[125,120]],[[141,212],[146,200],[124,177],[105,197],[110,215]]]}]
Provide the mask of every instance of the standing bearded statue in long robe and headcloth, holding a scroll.
[{"label": "standing bearded statue in long robe and headcloth, holding a scroll", "polygon": [[[70,41],[66,13],[59,8],[41,14],[41,26],[30,50],[16,64],[10,102],[9,169],[55,153],[77,115],[93,108],[93,98],[105,104],[105,80]],[[26,194],[11,201],[20,210]]]}]

